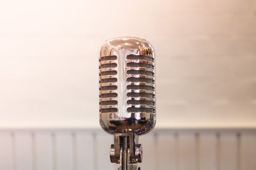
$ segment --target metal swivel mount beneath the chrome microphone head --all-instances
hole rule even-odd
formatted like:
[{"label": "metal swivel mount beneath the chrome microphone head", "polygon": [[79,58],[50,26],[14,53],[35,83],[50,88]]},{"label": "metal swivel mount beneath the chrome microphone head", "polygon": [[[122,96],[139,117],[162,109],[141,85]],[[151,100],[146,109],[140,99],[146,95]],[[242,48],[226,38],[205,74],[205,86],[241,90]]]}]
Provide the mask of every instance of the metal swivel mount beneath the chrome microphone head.
[{"label": "metal swivel mount beneath the chrome microphone head", "polygon": [[135,133],[115,133],[114,145],[110,148],[110,160],[119,164],[118,170],[140,170],[142,161],[142,146],[138,144]]}]

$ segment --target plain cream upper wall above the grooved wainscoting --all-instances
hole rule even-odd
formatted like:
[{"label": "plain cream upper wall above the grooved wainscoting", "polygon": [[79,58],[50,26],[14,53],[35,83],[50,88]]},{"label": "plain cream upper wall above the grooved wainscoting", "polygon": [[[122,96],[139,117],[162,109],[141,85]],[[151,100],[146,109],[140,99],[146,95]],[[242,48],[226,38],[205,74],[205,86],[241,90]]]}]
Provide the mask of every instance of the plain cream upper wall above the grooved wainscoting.
[{"label": "plain cream upper wall above the grooved wainscoting", "polygon": [[0,2],[0,128],[98,127],[98,50],[157,58],[158,127],[256,126],[256,0]]}]

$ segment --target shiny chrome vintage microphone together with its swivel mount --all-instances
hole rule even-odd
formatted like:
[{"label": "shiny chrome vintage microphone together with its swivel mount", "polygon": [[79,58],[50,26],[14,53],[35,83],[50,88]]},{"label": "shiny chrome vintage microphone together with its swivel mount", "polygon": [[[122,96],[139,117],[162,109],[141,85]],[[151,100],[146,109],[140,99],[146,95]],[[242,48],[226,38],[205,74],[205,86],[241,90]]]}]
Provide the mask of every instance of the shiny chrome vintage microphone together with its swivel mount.
[{"label": "shiny chrome vintage microphone together with its swivel mount", "polygon": [[114,135],[110,160],[118,170],[140,170],[138,136],[156,124],[155,51],[140,38],[107,40],[99,53],[101,127]]}]

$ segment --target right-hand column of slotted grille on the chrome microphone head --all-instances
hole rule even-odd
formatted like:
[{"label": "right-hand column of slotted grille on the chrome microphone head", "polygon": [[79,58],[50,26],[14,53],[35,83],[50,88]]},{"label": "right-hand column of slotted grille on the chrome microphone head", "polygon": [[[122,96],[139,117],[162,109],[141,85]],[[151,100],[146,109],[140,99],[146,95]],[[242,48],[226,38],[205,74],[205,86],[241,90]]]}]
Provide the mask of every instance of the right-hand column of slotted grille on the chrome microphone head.
[{"label": "right-hand column of slotted grille on the chrome microphone head", "polygon": [[155,61],[146,55],[127,55],[127,112],[155,113]]}]

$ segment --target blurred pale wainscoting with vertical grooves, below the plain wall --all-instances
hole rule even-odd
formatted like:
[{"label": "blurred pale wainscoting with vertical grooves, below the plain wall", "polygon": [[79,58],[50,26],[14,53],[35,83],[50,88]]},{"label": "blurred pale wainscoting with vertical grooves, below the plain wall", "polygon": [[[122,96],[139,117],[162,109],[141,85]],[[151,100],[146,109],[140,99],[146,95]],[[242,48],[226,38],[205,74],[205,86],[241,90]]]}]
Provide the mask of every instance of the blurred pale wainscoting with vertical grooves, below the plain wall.
[{"label": "blurred pale wainscoting with vertical grooves, below the plain wall", "polygon": [[[101,129],[2,129],[0,170],[117,170]],[[256,129],[156,129],[141,170],[256,170]]]}]

